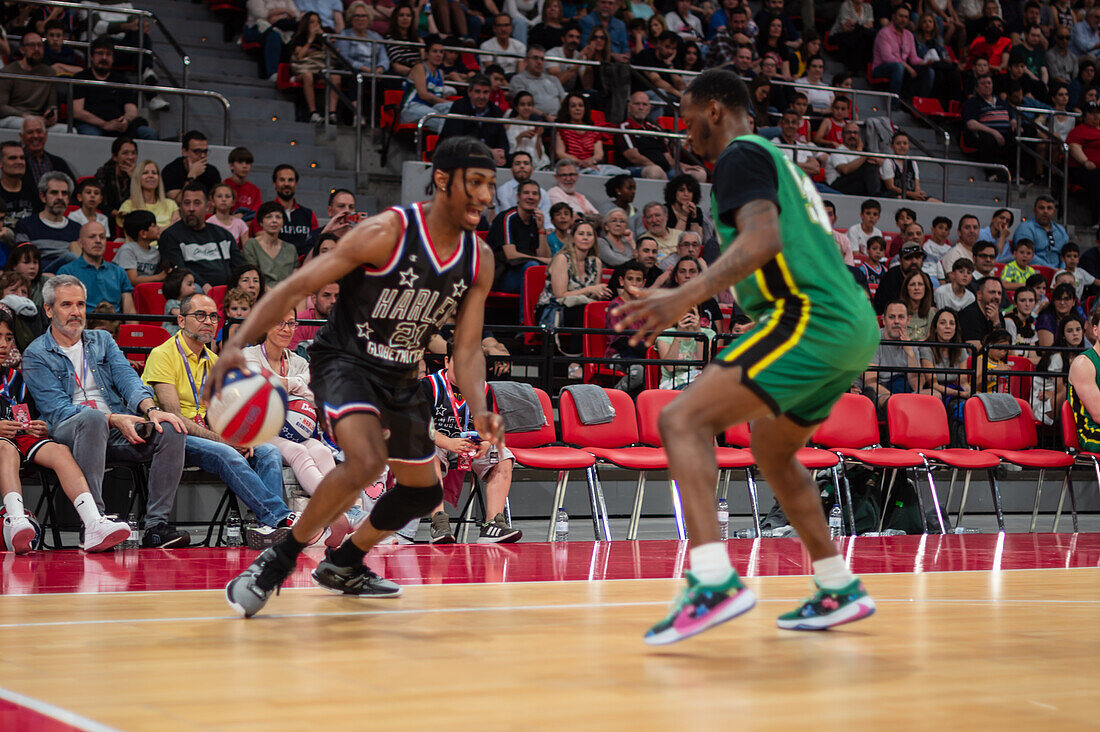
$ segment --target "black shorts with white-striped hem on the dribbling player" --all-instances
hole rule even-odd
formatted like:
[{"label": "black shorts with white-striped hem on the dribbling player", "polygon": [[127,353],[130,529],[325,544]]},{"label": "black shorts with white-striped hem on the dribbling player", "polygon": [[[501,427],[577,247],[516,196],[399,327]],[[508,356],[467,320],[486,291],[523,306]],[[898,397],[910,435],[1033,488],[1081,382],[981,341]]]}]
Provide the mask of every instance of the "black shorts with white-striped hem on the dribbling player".
[{"label": "black shorts with white-striped hem on the dribbling player", "polygon": [[382,420],[389,460],[431,462],[436,458],[436,444],[428,433],[432,404],[419,381],[384,379],[362,361],[318,350],[315,345],[309,384],[333,440],[334,426],[342,417],[367,412]]}]

